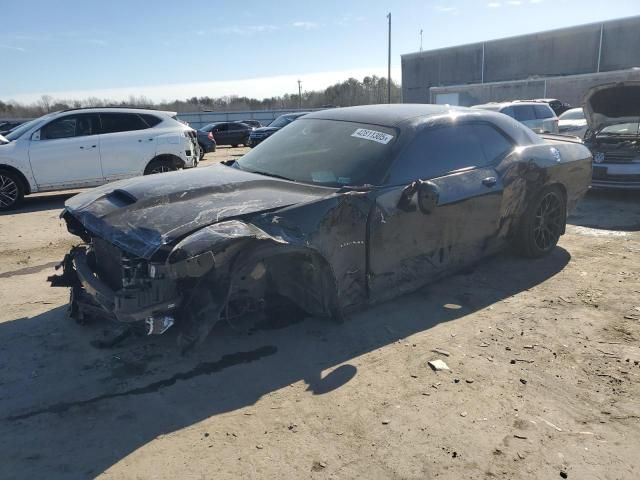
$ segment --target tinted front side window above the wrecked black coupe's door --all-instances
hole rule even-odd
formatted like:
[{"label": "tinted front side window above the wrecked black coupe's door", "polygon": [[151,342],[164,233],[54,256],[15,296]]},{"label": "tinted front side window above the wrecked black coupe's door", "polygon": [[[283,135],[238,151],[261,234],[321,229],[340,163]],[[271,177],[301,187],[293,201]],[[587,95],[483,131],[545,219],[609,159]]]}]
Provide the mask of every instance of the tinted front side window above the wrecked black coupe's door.
[{"label": "tinted front side window above the wrecked black coupe's door", "polygon": [[395,162],[390,183],[441,177],[463,168],[485,165],[487,161],[476,135],[476,126],[467,124],[425,130]]}]

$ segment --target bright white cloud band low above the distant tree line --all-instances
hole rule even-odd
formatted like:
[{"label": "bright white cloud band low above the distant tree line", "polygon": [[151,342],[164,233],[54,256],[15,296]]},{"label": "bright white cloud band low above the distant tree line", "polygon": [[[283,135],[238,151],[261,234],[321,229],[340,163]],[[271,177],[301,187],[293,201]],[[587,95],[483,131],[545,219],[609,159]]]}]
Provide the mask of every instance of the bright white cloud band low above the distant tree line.
[{"label": "bright white cloud band low above the distant tree line", "polygon": [[[387,76],[385,67],[358,68],[354,70],[341,70],[333,72],[317,72],[305,75],[280,75],[274,77],[251,78],[243,80],[227,80],[218,82],[197,82],[169,85],[148,85],[137,87],[105,88],[93,90],[67,90],[67,91],[38,91],[28,94],[4,96],[3,100],[15,100],[18,102],[35,102],[42,95],[51,95],[56,99],[74,100],[89,97],[97,97],[109,100],[128,100],[130,96],[143,95],[154,101],[186,99],[189,97],[223,97],[223,96],[247,96],[253,98],[268,98],[285,93],[298,92],[298,79],[302,81],[305,91],[322,90],[334,83],[342,82],[349,77],[362,79],[367,75]],[[391,70],[391,77],[400,80],[400,68]]]}]

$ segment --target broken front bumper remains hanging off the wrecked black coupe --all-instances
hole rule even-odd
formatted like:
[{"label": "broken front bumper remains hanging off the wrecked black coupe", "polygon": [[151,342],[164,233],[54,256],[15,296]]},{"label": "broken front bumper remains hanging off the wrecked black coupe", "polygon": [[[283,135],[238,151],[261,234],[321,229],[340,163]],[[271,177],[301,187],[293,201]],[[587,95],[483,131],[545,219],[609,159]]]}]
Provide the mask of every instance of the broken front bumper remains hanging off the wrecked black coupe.
[{"label": "broken front bumper remains hanging off the wrecked black coupe", "polygon": [[62,274],[48,278],[51,286],[71,287],[71,316],[122,323],[145,322],[147,333],[164,333],[173,325],[181,296],[175,281],[148,279],[144,283],[114,290],[91,267],[91,250],[74,247],[61,263]]}]

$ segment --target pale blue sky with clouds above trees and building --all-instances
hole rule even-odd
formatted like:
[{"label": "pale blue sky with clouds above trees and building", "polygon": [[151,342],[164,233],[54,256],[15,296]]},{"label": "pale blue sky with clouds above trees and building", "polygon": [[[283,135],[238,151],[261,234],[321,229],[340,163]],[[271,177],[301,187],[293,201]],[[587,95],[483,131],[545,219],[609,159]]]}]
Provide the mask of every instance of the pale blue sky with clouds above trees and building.
[{"label": "pale blue sky with clouds above trees and building", "polygon": [[386,72],[423,48],[640,14],[640,0],[10,1],[0,99],[278,95]]}]

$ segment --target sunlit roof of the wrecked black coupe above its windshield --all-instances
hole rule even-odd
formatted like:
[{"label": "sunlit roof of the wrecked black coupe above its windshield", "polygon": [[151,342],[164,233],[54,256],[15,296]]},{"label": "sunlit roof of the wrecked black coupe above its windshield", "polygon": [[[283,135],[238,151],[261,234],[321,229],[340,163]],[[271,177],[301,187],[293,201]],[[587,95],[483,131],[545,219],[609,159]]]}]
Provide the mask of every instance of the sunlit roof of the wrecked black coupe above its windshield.
[{"label": "sunlit roof of the wrecked black coupe above its windshield", "polygon": [[400,123],[417,117],[435,117],[454,111],[467,110],[469,109],[465,107],[452,107],[449,105],[401,103],[333,108],[309,113],[305,118],[397,126]]}]

